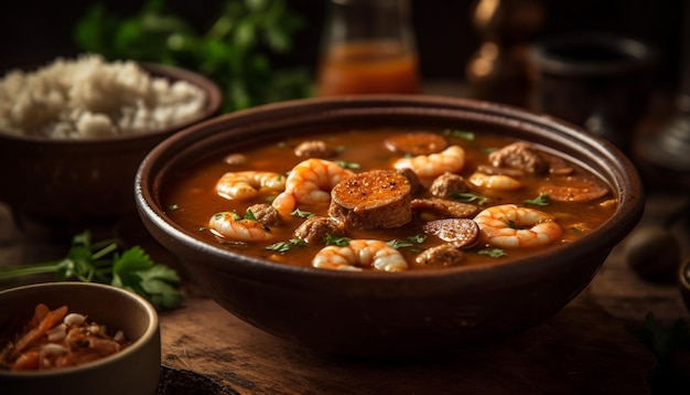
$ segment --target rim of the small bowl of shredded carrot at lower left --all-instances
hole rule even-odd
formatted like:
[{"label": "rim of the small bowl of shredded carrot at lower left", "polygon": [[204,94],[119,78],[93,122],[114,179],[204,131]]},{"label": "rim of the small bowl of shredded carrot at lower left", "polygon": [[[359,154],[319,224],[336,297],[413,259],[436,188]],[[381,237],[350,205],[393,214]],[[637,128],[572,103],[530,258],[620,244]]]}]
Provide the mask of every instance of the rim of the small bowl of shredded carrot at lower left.
[{"label": "rim of the small bowl of shredded carrot at lower left", "polygon": [[60,375],[73,375],[73,374],[88,373],[89,371],[100,369],[103,365],[108,365],[112,361],[119,360],[121,357],[126,357],[129,354],[138,352],[140,349],[145,346],[145,344],[148,344],[150,341],[155,339],[157,333],[159,332],[159,318],[158,318],[158,312],[155,311],[155,308],[143,297],[123,288],[105,285],[105,284],[97,284],[97,282],[75,282],[75,281],[42,282],[42,284],[32,284],[32,285],[19,286],[19,287],[0,290],[0,298],[2,298],[3,296],[12,295],[12,293],[19,293],[21,296],[21,293],[32,292],[33,290],[36,290],[36,289],[39,290],[56,289],[56,290],[62,290],[63,292],[69,292],[71,290],[74,290],[75,288],[90,289],[94,292],[104,292],[104,291],[111,292],[111,293],[118,295],[120,298],[133,300],[137,303],[137,306],[139,306],[141,310],[145,313],[149,320],[145,331],[141,334],[141,337],[139,337],[139,339],[134,340],[125,350],[120,350],[115,354],[104,356],[99,360],[96,360],[96,361],[93,361],[93,362],[89,362],[79,366],[50,370],[50,371],[39,371],[39,372],[35,372],[35,371],[8,372],[4,370],[0,370],[0,377],[2,376],[37,377],[37,376],[60,376]]}]

